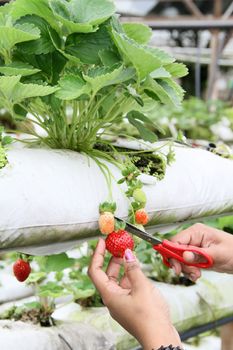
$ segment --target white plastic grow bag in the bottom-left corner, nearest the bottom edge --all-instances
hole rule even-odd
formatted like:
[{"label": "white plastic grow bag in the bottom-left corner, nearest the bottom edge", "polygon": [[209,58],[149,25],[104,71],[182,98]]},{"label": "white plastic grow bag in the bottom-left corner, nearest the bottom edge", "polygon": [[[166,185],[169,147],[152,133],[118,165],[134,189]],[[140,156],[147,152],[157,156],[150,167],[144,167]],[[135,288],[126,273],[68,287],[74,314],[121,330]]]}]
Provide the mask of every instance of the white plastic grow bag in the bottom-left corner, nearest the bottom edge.
[{"label": "white plastic grow bag in the bottom-left corner, nearest the bottom edge", "polygon": [[0,320],[1,350],[110,350],[114,340],[106,332],[82,324],[63,323],[41,328],[23,322]]}]

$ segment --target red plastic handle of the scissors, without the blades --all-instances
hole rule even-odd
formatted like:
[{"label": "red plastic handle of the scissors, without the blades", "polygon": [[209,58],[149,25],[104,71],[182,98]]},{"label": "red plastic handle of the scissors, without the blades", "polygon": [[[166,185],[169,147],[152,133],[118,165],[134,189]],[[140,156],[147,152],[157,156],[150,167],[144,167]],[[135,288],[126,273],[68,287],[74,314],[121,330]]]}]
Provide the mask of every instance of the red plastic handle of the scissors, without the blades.
[{"label": "red plastic handle of the scissors, without the blades", "polygon": [[[154,245],[153,248],[163,256],[163,263],[168,267],[171,267],[169,259],[176,259],[185,265],[196,266],[202,269],[210,268],[214,263],[210,255],[206,254],[201,248],[192,245],[177,244],[165,239],[161,244]],[[200,255],[205,261],[188,263],[183,258],[184,252]]]}]

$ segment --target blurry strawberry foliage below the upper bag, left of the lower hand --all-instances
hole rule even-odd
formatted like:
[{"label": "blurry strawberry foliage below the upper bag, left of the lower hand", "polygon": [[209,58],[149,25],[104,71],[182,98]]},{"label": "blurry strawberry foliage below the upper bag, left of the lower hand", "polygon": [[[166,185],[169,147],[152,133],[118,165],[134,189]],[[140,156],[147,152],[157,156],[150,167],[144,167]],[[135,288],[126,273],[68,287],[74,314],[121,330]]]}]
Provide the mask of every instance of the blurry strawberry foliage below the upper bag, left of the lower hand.
[{"label": "blurry strawberry foliage below the upper bag, left of the lower hand", "polygon": [[[68,302],[73,301],[84,307],[103,306],[100,295],[87,276],[87,268],[96,243],[96,240],[90,241],[85,254],[81,253],[84,248],[77,247],[77,254],[80,256],[76,259],[66,253],[33,257],[31,273],[26,283],[34,287],[36,301],[26,302],[20,306],[14,305],[1,313],[0,319],[21,320],[45,327],[53,326],[52,314],[56,308],[56,299],[64,296],[68,298]],[[15,262],[16,256],[18,254],[10,253],[6,258]],[[25,264],[26,257],[22,258],[23,260],[18,259],[15,264],[21,264],[21,260]],[[105,266],[107,263],[106,261]],[[16,266],[16,274],[18,271]],[[24,272],[25,270],[20,270],[18,276],[22,277]]]}]

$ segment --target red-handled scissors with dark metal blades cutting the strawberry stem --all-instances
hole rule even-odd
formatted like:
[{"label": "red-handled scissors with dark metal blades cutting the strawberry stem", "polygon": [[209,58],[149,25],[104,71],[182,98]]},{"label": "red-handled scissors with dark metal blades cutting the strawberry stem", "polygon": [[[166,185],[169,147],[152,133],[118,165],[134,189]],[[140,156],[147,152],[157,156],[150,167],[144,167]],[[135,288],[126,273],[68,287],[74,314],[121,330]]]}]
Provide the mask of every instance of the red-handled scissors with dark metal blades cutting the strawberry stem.
[{"label": "red-handled scissors with dark metal blades cutting the strawberry stem", "polygon": [[[128,232],[134,234],[137,237],[142,238],[143,240],[149,242],[152,244],[153,249],[159,252],[162,257],[163,257],[163,263],[171,267],[171,264],[169,262],[169,259],[176,259],[179,262],[189,265],[189,266],[196,266],[202,269],[210,268],[214,261],[211,256],[203,252],[200,248],[192,246],[192,245],[184,245],[184,244],[178,244],[178,243],[173,243],[168,241],[167,239],[164,239],[161,241],[158,238],[153,237],[147,232],[144,232],[137,228],[136,226],[119,219],[115,217],[117,220],[124,222],[125,223],[125,228]],[[202,258],[204,258],[204,262],[193,262],[193,263],[188,263],[187,261],[184,260],[183,258],[183,253],[184,252],[192,252],[194,254],[200,255]]]}]

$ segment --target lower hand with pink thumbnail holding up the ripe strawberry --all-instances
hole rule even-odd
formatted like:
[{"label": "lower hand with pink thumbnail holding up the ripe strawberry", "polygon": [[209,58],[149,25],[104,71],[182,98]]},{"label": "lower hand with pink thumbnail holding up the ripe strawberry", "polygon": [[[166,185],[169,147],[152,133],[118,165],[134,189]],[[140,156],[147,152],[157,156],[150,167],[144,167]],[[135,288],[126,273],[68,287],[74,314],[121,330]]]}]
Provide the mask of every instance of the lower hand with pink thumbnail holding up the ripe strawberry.
[{"label": "lower hand with pink thumbnail holding up the ripe strawberry", "polygon": [[[164,298],[143,274],[131,250],[126,250],[124,262],[112,257],[106,273],[102,269],[104,255],[105,241],[100,239],[88,273],[111,316],[139,341],[144,350],[157,349],[161,345],[181,345]],[[119,280],[122,263],[125,274]]]}]

